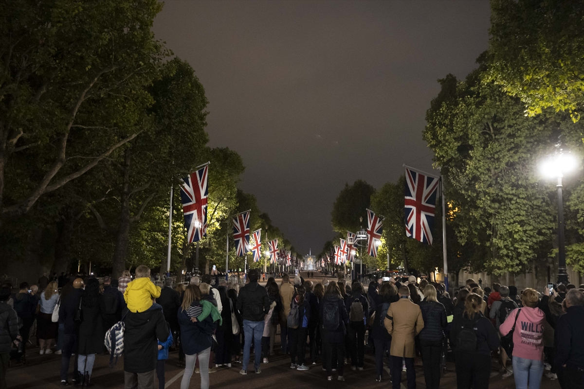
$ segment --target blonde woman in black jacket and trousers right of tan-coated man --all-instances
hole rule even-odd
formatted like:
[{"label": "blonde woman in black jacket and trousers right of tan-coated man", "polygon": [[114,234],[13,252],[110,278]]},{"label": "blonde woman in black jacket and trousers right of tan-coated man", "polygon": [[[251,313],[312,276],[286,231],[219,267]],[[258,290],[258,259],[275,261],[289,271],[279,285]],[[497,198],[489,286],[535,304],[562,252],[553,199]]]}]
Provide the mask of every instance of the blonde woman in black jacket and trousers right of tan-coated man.
[{"label": "blonde woman in black jacket and trousers right of tan-coated man", "polygon": [[419,305],[424,321],[424,328],[420,331],[424,379],[427,389],[439,389],[444,328],[448,324],[446,309],[438,302],[433,285],[426,285],[423,292],[426,297]]}]

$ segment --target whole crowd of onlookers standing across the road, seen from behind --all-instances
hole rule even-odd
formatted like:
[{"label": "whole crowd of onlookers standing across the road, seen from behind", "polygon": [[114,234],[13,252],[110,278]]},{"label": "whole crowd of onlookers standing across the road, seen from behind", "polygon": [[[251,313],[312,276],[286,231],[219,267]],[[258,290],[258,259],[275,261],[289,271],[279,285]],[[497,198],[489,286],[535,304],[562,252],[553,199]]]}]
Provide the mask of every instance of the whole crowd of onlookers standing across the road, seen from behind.
[{"label": "whole crowd of onlookers standing across the road, seen from behind", "polygon": [[[363,370],[366,345],[375,355],[375,379],[389,371],[392,387],[406,372],[416,387],[414,360],[420,357],[427,388],[439,388],[449,350],[456,361],[458,388],[488,388],[493,360],[503,379],[517,388],[538,389],[542,376],[562,389],[584,384],[584,285],[554,285],[542,293],[494,283],[482,289],[473,279],[453,291],[440,283],[305,281],[301,276],[270,277],[265,286],[251,269],[244,286],[211,275],[193,276],[188,285],[166,278],[154,285],[141,265],[134,277],[124,271],[103,283],[89,277],[43,275],[38,285],[22,282],[0,288],[0,389],[9,360],[26,360],[34,324],[39,353],[61,356],[61,384],[91,386],[96,355],[105,352],[106,331],[123,321],[124,381],[127,388],[165,386],[169,350],[179,351],[188,388],[193,374],[208,388],[209,374],[241,363],[247,375],[262,372],[280,353],[290,368],[306,371],[322,363],[327,380],[345,380],[346,369]],[[214,281],[214,282],[213,282]],[[482,280],[481,280],[482,281]],[[61,285],[61,286],[60,286]],[[113,366],[113,358],[110,366]],[[385,369],[387,367],[387,369]]]}]

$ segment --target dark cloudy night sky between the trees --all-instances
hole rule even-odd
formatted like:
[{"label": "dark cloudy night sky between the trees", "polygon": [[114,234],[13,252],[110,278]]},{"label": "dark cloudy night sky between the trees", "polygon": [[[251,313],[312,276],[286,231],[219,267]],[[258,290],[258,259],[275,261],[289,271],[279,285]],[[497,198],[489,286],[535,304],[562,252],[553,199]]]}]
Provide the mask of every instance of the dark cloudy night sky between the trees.
[{"label": "dark cloudy night sky between the trees", "polygon": [[430,0],[166,1],[154,23],[205,87],[210,146],[243,157],[239,186],[300,253],[334,235],[345,183],[430,169],[436,80],[474,69],[488,28],[488,1]]}]

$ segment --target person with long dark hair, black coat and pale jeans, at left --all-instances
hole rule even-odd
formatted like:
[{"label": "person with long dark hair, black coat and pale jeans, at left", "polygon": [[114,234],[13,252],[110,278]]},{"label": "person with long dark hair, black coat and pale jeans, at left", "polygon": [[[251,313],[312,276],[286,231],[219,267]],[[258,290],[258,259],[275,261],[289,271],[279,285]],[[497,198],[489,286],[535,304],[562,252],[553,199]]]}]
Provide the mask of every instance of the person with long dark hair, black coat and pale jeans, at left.
[{"label": "person with long dark hair, black coat and pale jeans, at left", "polygon": [[79,324],[79,349],[77,366],[81,383],[91,384],[91,373],[95,355],[103,351],[103,297],[99,292],[99,281],[90,278],[81,293],[81,324]]}]

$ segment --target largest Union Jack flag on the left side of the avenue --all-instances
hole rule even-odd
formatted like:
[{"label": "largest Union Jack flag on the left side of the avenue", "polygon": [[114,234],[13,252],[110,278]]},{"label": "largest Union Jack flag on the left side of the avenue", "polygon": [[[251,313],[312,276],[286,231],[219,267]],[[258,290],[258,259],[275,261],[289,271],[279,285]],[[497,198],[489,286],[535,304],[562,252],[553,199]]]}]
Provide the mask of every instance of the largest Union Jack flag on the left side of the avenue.
[{"label": "largest Union Jack flag on the left side of the avenue", "polygon": [[180,201],[185,215],[187,241],[197,242],[207,236],[207,187],[209,166],[203,167],[183,178],[180,185]]}]

